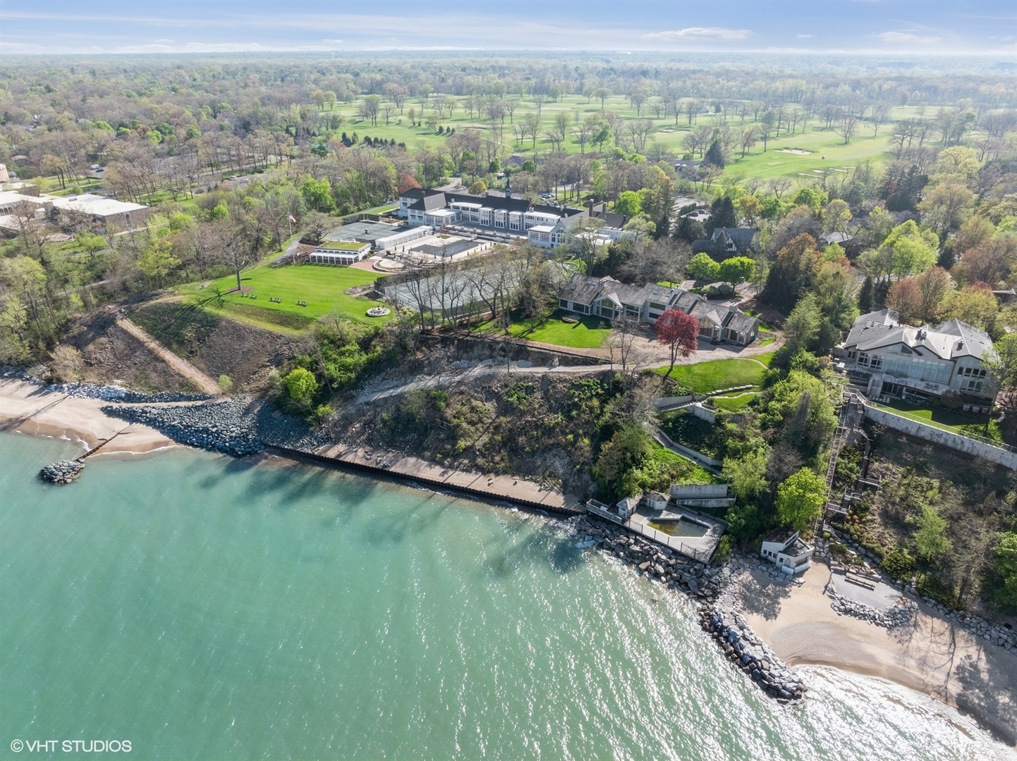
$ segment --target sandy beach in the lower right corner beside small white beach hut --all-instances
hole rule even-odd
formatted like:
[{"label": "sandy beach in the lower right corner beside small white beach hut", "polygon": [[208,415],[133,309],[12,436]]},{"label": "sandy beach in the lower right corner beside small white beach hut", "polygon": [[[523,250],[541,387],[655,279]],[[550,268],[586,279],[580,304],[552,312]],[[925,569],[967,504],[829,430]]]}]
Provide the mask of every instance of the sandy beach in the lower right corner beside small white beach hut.
[{"label": "sandy beach in the lower right corner beside small white beach hut", "polygon": [[896,682],[955,706],[1017,745],[1017,654],[976,639],[919,601],[911,623],[884,629],[830,607],[830,569],[801,586],[754,573],[741,584],[749,624],[789,665],[819,663]]}]

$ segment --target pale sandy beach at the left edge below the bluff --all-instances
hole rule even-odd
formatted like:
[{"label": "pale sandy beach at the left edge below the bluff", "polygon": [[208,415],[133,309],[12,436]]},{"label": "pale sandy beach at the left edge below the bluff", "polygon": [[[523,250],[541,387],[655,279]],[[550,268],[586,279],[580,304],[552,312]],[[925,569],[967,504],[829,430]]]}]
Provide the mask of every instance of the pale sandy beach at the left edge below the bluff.
[{"label": "pale sandy beach at the left edge below the bluff", "polygon": [[67,439],[83,450],[108,442],[96,457],[178,446],[154,428],[106,417],[100,407],[108,403],[47,392],[19,379],[0,379],[0,431]]}]

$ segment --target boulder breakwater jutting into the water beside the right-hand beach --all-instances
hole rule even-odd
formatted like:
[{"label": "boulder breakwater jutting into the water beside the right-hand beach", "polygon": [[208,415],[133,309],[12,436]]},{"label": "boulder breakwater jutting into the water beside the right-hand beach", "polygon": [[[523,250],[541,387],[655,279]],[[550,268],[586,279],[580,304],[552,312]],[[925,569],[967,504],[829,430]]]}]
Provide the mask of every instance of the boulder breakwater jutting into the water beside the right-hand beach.
[{"label": "boulder breakwater jutting into the water beside the right-hand beach", "polygon": [[804,697],[809,688],[756,636],[739,614],[704,605],[700,608],[700,624],[717,640],[728,659],[768,695],[783,703]]}]

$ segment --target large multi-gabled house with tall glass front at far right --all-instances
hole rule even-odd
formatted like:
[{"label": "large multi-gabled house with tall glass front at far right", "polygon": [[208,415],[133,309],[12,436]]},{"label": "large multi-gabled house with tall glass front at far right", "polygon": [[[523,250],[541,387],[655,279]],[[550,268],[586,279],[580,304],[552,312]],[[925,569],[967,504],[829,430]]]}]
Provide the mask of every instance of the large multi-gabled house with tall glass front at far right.
[{"label": "large multi-gabled house with tall glass front at far right", "polygon": [[996,383],[982,364],[994,352],[989,334],[966,322],[911,327],[884,309],[855,320],[835,355],[868,396],[921,402],[947,391],[995,398]]}]

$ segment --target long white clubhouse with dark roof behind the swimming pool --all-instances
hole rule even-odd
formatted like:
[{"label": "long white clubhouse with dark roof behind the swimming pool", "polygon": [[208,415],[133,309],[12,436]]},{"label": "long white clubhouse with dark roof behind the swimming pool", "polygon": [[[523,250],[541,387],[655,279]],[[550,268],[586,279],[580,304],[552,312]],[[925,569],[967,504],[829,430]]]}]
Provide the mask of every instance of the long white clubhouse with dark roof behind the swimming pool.
[{"label": "long white clubhouse with dark roof behind the swimming pool", "polygon": [[531,243],[543,248],[565,243],[572,227],[584,216],[595,216],[604,224],[598,232],[601,242],[616,241],[626,235],[621,228],[629,220],[621,214],[594,211],[592,208],[584,210],[533,204],[523,198],[422,188],[412,188],[401,194],[396,213],[410,225],[429,225],[435,229],[469,225],[525,236]]}]

